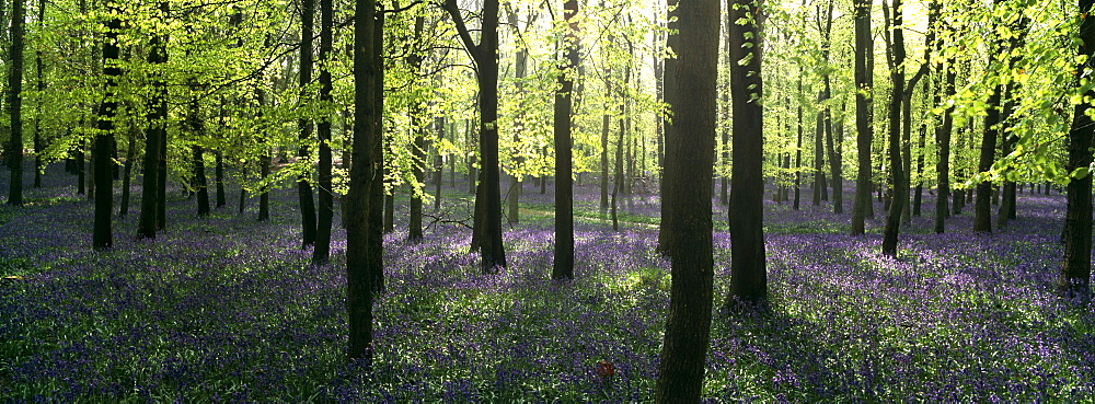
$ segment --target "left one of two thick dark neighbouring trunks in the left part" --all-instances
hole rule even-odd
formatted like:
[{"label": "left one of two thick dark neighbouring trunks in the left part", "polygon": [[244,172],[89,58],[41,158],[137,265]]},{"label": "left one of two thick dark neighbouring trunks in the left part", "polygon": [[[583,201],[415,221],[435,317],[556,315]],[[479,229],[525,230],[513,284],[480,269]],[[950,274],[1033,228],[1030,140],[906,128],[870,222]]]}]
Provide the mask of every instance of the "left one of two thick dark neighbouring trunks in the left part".
[{"label": "left one of two thick dark neighbouring trunks in the left part", "polygon": [[118,68],[118,33],[122,31],[122,20],[114,1],[106,3],[106,10],[115,15],[105,22],[106,41],[103,42],[103,76],[106,77],[103,102],[99,109],[99,132],[95,135],[95,226],[92,245],[95,250],[106,250],[114,245],[114,226],[111,216],[114,213],[114,173],[111,166],[111,143],[114,138],[114,116],[117,115],[118,101],[115,96],[122,69]]}]

